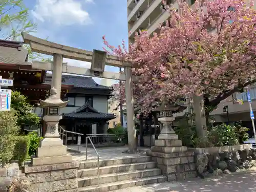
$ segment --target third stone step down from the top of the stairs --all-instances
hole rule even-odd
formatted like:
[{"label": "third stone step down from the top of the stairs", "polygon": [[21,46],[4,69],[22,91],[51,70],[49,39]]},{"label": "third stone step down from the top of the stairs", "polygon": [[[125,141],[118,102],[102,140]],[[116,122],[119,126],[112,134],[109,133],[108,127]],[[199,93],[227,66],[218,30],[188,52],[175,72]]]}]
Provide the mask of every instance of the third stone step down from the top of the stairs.
[{"label": "third stone step down from the top of the stairs", "polygon": [[[99,183],[105,184],[105,183],[111,183],[116,181],[125,181],[129,179],[158,176],[160,174],[161,174],[160,168],[132,170],[132,171],[123,172],[123,173],[100,175]],[[98,184],[98,176],[84,177],[84,178],[78,179],[78,187],[86,187],[86,186],[97,185],[97,184]]]}]

